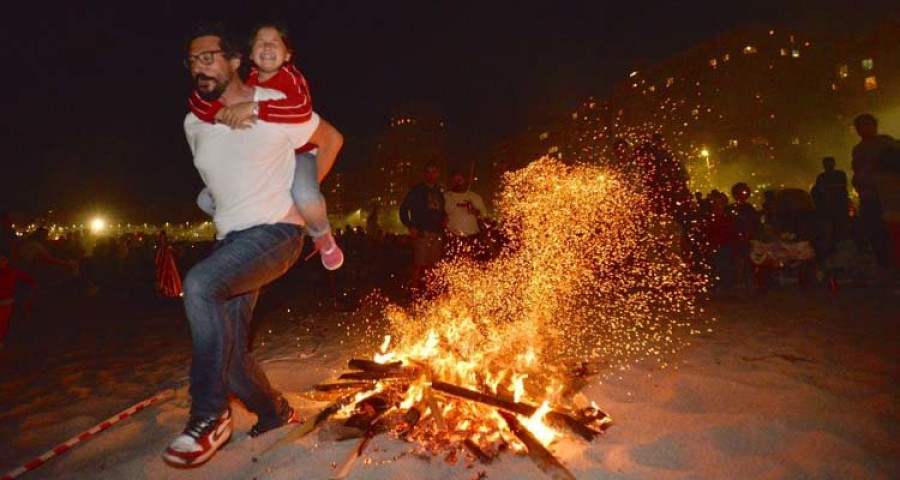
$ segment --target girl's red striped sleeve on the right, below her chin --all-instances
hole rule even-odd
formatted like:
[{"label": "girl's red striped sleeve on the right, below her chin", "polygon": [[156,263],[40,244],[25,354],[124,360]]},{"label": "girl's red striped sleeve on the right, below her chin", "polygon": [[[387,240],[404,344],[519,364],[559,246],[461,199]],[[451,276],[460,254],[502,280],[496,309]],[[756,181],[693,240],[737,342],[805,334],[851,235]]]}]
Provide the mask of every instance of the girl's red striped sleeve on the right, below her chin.
[{"label": "girl's red striped sleeve on the right, below her chin", "polygon": [[260,84],[284,92],[286,98],[259,102],[259,119],[272,123],[304,123],[312,117],[312,96],[303,74],[293,65],[281,67],[274,77]]}]

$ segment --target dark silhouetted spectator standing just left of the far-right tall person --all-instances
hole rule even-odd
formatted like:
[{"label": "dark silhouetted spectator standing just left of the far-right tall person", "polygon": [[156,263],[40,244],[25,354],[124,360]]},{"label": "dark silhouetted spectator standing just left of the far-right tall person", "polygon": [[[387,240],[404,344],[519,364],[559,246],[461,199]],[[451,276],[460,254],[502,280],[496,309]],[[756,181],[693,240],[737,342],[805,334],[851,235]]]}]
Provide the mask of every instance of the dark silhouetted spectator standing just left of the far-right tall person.
[{"label": "dark silhouetted spectator standing just left of the far-right tall person", "polygon": [[847,174],[835,170],[834,157],[823,158],[822,167],[825,171],[816,177],[816,184],[810,192],[816,204],[819,260],[835,252],[837,242],[847,237],[850,222]]}]

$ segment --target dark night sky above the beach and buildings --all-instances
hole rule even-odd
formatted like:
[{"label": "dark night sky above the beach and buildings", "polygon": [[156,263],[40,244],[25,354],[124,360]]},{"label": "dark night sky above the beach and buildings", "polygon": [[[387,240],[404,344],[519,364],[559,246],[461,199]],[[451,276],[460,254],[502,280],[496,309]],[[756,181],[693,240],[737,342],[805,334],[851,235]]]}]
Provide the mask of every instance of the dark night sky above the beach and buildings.
[{"label": "dark night sky above the beach and buildings", "polygon": [[241,33],[285,21],[316,110],[345,134],[339,161],[365,169],[366,142],[398,105],[443,109],[453,153],[473,155],[604,94],[637,62],[746,24],[852,29],[890,2],[76,3],[4,7],[0,209],[198,218],[181,53],[201,20]]}]

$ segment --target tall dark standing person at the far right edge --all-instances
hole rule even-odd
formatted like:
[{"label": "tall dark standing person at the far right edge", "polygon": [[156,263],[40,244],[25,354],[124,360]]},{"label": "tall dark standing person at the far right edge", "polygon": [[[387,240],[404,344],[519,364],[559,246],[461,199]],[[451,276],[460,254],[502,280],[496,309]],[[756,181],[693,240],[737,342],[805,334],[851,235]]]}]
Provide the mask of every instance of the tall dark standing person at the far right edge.
[{"label": "tall dark standing person at the far right edge", "polygon": [[878,195],[878,161],[888,150],[898,148],[889,135],[878,134],[878,120],[868,113],[853,120],[860,141],[853,147],[853,187],[859,194],[859,220],[863,235],[875,253],[878,266],[891,264],[887,227]]}]

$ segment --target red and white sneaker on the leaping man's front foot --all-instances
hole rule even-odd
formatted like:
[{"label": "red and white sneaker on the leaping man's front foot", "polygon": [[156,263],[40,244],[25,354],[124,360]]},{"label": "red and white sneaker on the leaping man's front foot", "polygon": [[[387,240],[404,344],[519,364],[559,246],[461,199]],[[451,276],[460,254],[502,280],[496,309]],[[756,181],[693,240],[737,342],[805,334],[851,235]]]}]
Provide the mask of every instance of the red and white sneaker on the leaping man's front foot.
[{"label": "red and white sneaker on the leaping man's front foot", "polygon": [[203,465],[231,438],[231,410],[218,417],[191,417],[188,424],[163,453],[166,463],[181,468]]}]

